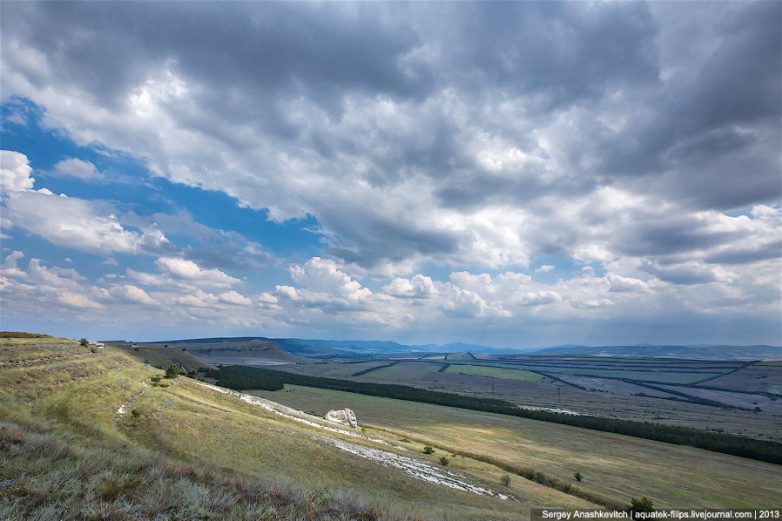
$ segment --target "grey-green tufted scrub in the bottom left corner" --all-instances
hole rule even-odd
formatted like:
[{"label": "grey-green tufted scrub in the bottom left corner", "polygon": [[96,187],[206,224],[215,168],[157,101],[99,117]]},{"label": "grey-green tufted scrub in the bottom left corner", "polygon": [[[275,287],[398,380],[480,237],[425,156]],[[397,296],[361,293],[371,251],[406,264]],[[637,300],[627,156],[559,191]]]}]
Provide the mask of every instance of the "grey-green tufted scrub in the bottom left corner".
[{"label": "grey-green tufted scrub in the bottom left corner", "polygon": [[401,519],[346,495],[0,423],[0,519]]}]

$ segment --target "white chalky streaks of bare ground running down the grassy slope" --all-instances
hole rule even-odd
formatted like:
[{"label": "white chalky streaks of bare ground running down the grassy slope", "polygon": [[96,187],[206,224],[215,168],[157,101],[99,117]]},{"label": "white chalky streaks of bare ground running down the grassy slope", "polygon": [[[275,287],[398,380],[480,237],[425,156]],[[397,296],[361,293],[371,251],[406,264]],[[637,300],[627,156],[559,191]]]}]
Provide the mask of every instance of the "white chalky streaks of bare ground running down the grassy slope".
[{"label": "white chalky streaks of bare ground running down the grassy slope", "polygon": [[[196,383],[203,387],[207,387],[209,389],[212,389],[222,394],[236,396],[240,400],[261,407],[266,411],[272,412],[279,416],[283,416],[289,420],[303,423],[307,426],[314,427],[319,430],[334,432],[345,436],[360,438],[364,441],[368,441],[371,443],[377,443],[377,444],[389,446],[388,442],[386,442],[385,440],[381,440],[379,438],[371,438],[369,436],[364,436],[356,432],[348,431],[346,429],[339,429],[337,427],[322,425],[321,423],[319,423],[320,418],[316,416],[309,415],[305,412],[298,411],[291,407],[286,407],[285,405],[281,405],[271,400],[266,400],[258,396],[252,396],[249,394],[232,391],[230,389],[225,389],[223,387],[218,387],[216,385],[211,385],[204,382],[196,381]],[[453,488],[456,490],[462,490],[464,492],[471,492],[473,494],[496,497],[506,501],[518,501],[518,499],[516,499],[515,497],[509,494],[503,494],[501,492],[497,492],[495,490],[486,487],[481,487],[479,485],[472,484],[468,482],[464,476],[457,474],[456,472],[451,472],[449,470],[433,467],[432,465],[429,465],[428,463],[425,463],[421,460],[410,458],[408,456],[402,456],[401,454],[397,454],[395,452],[391,452],[388,450],[378,449],[374,447],[367,447],[365,445],[359,445],[357,443],[351,443],[336,438],[329,438],[327,436],[312,435],[312,437],[321,442],[336,447],[337,449],[342,450],[344,452],[348,452],[355,456],[359,456],[361,458],[374,461],[375,463],[378,463],[385,467],[399,469],[404,473],[406,473],[407,475],[415,479],[419,479],[421,481],[436,483],[438,485]],[[396,447],[396,448],[404,449],[404,447]]]}]

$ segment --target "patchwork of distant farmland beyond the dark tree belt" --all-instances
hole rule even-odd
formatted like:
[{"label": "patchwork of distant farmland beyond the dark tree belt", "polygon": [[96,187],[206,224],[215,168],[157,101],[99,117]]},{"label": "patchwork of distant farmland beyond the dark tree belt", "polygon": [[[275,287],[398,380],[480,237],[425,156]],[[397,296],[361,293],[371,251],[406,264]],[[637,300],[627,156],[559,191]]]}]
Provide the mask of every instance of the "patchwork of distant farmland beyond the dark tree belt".
[{"label": "patchwork of distant farmland beyond the dark tree belt", "polygon": [[[398,363],[351,376],[359,368],[381,367],[394,361]],[[445,363],[450,365],[439,372]],[[280,369],[498,398],[529,407],[782,439],[782,417],[776,405],[782,402],[758,394],[782,390],[782,367],[769,363],[572,356],[473,357],[462,353],[449,354],[447,361],[374,359],[360,364],[331,361]],[[585,374],[589,376],[577,376]],[[701,381],[704,383],[692,383]],[[705,393],[700,385],[703,389],[714,387],[756,394],[735,397]],[[756,407],[760,410],[756,411]]]}]

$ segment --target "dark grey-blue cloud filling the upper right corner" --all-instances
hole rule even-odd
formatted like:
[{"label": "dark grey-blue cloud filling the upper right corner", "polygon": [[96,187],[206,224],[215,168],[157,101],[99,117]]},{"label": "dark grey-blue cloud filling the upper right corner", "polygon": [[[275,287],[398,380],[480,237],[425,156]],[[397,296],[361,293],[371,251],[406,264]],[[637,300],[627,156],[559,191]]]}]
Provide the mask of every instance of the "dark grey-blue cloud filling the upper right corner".
[{"label": "dark grey-blue cloud filling the upper right corner", "polygon": [[[638,102],[654,108],[635,129],[611,141],[597,173],[658,176],[656,191],[701,208],[730,209],[782,195],[782,4],[734,5],[708,35],[713,48],[673,64],[659,92]],[[705,24],[704,24],[705,25]],[[697,33],[662,45],[685,49]]]}]

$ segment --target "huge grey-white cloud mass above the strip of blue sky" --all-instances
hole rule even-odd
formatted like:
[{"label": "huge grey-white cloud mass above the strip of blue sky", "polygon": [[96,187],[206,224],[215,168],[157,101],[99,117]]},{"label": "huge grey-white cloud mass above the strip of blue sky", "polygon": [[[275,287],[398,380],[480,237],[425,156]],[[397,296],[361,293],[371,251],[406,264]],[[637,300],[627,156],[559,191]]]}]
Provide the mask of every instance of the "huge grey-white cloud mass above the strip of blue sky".
[{"label": "huge grey-white cloud mass above the strip of blue sky", "polygon": [[[89,117],[74,127],[151,158],[178,182],[279,206],[284,218],[313,215],[331,253],[365,267],[460,253],[459,262],[480,264],[507,245],[454,213],[496,208],[545,208],[533,216],[537,237],[519,249],[572,254],[585,224],[603,226],[629,256],[716,248],[736,234],[688,210],[782,195],[778,2],[0,9],[4,71],[14,78],[82,93],[85,113],[121,114],[128,96],[167,68],[188,91],[157,111],[205,139],[137,145],[154,127],[102,132]],[[492,169],[477,157],[492,140],[532,159]],[[584,222],[559,217],[558,204],[606,186],[670,202],[677,214],[639,209],[620,222],[596,208]],[[540,199],[547,203],[538,207]],[[520,235],[525,217],[498,235]],[[199,251],[191,254],[227,265]]]}]

